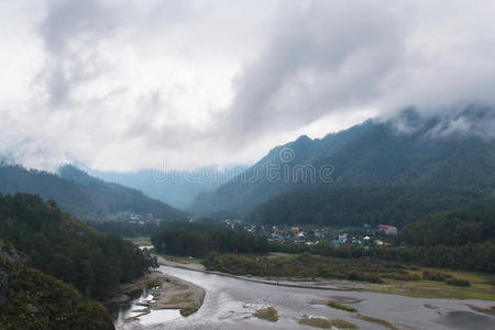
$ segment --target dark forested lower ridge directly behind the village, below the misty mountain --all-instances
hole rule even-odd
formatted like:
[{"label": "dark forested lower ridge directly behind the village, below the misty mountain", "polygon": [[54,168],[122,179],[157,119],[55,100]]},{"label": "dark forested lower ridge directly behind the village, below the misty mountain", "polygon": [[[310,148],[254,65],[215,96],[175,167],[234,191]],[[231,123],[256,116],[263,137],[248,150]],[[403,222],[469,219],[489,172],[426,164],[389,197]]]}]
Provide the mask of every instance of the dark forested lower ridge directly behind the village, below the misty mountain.
[{"label": "dark forested lower ridge directly behind the village, below the misty mountain", "polygon": [[425,216],[452,210],[495,210],[495,196],[435,188],[298,189],[256,207],[250,221],[280,224],[403,227]]}]

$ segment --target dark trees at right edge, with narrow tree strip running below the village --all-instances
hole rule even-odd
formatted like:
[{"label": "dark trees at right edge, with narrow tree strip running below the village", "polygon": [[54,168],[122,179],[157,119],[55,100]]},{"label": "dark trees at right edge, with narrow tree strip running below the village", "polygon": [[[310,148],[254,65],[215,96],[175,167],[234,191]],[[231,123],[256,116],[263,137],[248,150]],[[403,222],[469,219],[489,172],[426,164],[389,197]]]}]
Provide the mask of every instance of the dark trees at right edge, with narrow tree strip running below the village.
[{"label": "dark trees at right edge, with narrow tree strip running below the village", "polygon": [[406,226],[397,242],[404,248],[371,248],[327,242],[306,244],[271,243],[273,252],[319,254],[344,258],[381,260],[495,273],[495,212],[441,212]]}]

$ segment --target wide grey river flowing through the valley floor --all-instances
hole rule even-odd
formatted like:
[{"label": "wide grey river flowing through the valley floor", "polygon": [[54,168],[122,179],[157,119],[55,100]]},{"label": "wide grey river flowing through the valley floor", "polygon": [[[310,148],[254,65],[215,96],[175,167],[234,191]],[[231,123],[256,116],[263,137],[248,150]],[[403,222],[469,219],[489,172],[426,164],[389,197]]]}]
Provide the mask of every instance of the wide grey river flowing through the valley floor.
[{"label": "wide grey river flowing through the valley floor", "polygon": [[[354,314],[312,305],[311,300],[329,300],[336,297],[363,299],[348,304],[360,315],[384,319],[411,329],[495,329],[495,318],[472,310],[466,304],[491,307],[493,301],[410,298],[365,292],[338,292],[283,287],[238,278],[205,274],[183,268],[161,266],[158,271],[173,275],[206,290],[201,308],[183,318],[176,310],[152,311],[142,322],[118,322],[119,330],[160,329],[311,329],[295,320],[304,315],[340,318],[361,329],[387,329],[358,319]],[[252,316],[256,308],[273,306],[279,321],[271,323]],[[316,328],[312,328],[316,329]]]}]

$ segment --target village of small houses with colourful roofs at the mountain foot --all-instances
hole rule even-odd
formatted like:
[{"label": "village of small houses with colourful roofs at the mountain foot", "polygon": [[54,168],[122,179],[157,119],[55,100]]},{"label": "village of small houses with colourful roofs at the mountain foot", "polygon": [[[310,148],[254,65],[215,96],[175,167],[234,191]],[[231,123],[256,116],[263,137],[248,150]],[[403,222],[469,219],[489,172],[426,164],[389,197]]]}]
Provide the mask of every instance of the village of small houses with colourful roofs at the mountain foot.
[{"label": "village of small houses with colourful roofs at the mountain foot", "polygon": [[[361,228],[316,228],[310,226],[256,226],[245,224],[242,220],[224,220],[224,224],[231,229],[242,229],[267,238],[271,242],[278,243],[304,243],[307,245],[327,242],[334,246],[342,244],[355,244],[370,246],[397,246],[397,228],[392,224],[378,224],[372,227],[363,223]],[[400,246],[399,246],[400,248]]]}]

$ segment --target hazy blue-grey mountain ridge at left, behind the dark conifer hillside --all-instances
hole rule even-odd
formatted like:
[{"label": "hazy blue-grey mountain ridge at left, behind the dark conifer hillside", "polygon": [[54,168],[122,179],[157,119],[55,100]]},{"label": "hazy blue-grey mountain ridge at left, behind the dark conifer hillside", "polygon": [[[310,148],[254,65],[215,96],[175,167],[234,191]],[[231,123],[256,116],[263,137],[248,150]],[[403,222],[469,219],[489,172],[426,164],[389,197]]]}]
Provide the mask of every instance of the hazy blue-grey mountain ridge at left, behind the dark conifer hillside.
[{"label": "hazy blue-grey mountain ridge at left, behind the dark conifer hillside", "polygon": [[186,213],[143,193],[117,184],[109,184],[66,165],[59,174],[26,169],[19,165],[0,165],[0,193],[37,194],[53,199],[62,210],[84,220],[107,220],[122,212],[153,213],[163,220],[184,220]]}]

